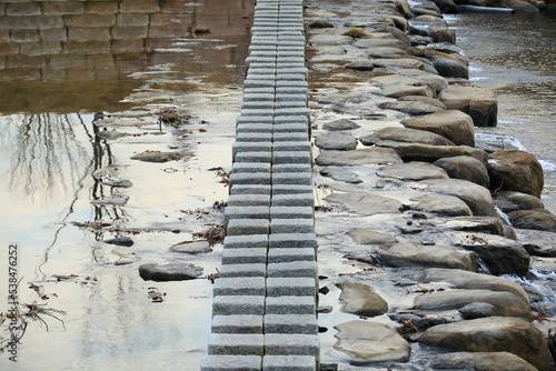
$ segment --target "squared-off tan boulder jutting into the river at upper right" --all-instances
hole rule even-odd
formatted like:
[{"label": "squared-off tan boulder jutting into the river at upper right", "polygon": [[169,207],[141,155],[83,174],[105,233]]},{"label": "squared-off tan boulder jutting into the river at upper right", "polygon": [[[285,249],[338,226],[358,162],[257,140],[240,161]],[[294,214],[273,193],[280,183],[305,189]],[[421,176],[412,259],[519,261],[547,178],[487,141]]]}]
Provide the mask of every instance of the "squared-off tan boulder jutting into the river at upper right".
[{"label": "squared-off tan boulder jutting into the river at upper right", "polygon": [[496,127],[498,102],[492,90],[453,86],[443,90],[438,98],[449,110],[469,114],[476,127]]}]

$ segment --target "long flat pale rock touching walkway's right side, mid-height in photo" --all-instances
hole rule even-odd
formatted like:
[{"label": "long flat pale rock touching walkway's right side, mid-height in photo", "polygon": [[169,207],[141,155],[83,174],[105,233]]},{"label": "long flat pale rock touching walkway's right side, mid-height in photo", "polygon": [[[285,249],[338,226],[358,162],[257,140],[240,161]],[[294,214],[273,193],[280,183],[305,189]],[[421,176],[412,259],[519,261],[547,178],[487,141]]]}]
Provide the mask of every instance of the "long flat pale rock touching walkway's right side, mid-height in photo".
[{"label": "long flat pale rock touching walkway's right side, mid-height in photo", "polygon": [[368,148],[355,151],[324,151],[315,159],[319,166],[358,166],[368,163],[400,163],[401,158],[393,149]]}]

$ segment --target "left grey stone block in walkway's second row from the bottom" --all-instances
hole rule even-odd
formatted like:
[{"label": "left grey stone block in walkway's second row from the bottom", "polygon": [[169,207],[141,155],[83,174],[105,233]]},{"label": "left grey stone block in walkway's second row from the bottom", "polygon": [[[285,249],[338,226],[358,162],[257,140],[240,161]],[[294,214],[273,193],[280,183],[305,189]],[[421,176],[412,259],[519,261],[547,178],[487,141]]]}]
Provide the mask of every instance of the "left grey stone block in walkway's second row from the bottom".
[{"label": "left grey stone block in walkway's second row from the bottom", "polygon": [[264,337],[262,334],[256,333],[212,333],[209,337],[208,353],[228,355],[262,355],[265,353]]}]

